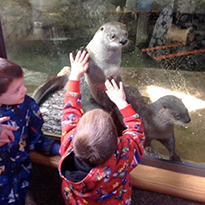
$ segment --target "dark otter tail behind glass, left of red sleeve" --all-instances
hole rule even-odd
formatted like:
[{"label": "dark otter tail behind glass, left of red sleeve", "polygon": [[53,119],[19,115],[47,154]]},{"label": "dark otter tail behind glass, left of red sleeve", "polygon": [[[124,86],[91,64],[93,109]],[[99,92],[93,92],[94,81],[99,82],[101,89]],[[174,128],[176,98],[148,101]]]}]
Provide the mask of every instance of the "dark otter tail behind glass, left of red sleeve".
[{"label": "dark otter tail behind glass, left of red sleeve", "polygon": [[33,93],[32,97],[39,104],[39,106],[55,91],[65,87],[68,81],[68,74],[56,76],[52,80],[39,86]]}]

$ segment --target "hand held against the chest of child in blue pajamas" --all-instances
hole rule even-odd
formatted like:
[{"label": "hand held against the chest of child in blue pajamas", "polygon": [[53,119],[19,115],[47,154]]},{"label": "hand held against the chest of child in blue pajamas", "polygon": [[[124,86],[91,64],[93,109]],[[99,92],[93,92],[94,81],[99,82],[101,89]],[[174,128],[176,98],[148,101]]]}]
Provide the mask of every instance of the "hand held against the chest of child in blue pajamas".
[{"label": "hand held against the chest of child in blue pajamas", "polygon": [[14,134],[13,131],[17,131],[18,127],[10,126],[6,124],[2,124],[10,119],[10,117],[1,117],[0,118],[0,126],[1,126],[1,133],[0,133],[0,147],[8,142],[14,141]]}]

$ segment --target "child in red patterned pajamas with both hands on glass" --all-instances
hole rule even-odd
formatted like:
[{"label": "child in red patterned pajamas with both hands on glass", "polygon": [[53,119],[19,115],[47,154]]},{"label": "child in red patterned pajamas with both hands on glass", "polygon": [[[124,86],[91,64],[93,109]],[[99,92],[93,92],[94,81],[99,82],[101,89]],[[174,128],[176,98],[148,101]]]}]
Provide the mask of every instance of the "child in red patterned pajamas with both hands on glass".
[{"label": "child in red patterned pajamas with both hands on glass", "polygon": [[101,109],[83,114],[80,77],[89,67],[89,54],[70,54],[69,76],[62,116],[59,173],[66,204],[131,204],[130,172],[144,156],[144,129],[127,103],[123,84],[106,81],[106,93],[120,110],[126,129],[117,136],[111,116]]}]

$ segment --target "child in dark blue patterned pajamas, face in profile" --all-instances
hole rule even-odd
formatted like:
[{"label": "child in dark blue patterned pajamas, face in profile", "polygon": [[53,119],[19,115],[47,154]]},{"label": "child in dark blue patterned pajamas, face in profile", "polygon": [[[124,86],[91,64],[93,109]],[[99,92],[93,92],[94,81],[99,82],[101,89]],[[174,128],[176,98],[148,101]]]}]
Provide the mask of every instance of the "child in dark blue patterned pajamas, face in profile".
[{"label": "child in dark blue patterned pajamas, face in profile", "polygon": [[23,71],[0,58],[0,204],[23,205],[30,181],[29,151],[56,154],[59,144],[42,138],[43,118],[37,103],[26,95]]}]

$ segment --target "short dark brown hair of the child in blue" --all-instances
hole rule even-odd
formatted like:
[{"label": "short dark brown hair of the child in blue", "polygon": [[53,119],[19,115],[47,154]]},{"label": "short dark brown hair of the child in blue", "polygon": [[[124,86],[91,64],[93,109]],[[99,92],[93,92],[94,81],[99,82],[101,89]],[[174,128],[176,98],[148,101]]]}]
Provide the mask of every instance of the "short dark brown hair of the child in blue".
[{"label": "short dark brown hair of the child in blue", "polygon": [[0,58],[0,95],[5,93],[14,79],[23,77],[21,67],[5,58]]}]

